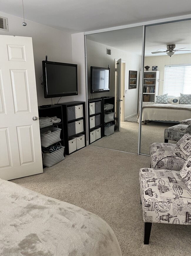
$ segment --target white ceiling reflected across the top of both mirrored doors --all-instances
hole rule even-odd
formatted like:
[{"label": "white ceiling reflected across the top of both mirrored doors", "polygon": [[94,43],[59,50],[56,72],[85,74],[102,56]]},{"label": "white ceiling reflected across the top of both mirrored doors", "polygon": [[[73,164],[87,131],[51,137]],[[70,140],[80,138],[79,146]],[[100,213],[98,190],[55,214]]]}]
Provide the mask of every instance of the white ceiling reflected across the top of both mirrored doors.
[{"label": "white ceiling reflected across the top of both mirrored doors", "polygon": [[[142,55],[143,27],[132,27],[87,35],[92,40],[104,45]],[[191,50],[191,20],[171,22],[146,27],[145,56],[160,56],[166,53],[152,54],[158,49],[166,49],[167,44],[175,44],[176,49]],[[176,52],[175,54],[191,53]]]}]

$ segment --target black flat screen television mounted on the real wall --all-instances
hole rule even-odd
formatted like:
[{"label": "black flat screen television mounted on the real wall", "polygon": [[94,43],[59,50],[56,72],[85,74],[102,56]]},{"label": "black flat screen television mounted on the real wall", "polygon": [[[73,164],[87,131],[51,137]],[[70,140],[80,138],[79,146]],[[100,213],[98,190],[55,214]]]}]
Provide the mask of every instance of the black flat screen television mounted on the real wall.
[{"label": "black flat screen television mounted on the real wall", "polygon": [[42,61],[44,97],[78,95],[77,64]]}]

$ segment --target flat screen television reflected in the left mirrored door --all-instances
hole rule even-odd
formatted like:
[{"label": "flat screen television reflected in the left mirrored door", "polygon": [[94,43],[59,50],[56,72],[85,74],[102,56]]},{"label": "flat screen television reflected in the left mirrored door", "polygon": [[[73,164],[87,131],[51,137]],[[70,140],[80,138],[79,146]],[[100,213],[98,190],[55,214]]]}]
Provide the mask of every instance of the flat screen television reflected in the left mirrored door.
[{"label": "flat screen television reflected in the left mirrored door", "polygon": [[91,71],[91,93],[109,92],[110,69],[90,67]]}]

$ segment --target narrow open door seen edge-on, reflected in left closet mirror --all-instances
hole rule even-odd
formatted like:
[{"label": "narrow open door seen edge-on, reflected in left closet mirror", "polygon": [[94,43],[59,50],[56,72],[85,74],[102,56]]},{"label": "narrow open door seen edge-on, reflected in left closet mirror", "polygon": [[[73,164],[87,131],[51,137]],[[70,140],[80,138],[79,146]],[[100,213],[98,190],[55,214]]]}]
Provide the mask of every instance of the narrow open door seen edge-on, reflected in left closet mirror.
[{"label": "narrow open door seen edge-on, reflected in left closet mirror", "polygon": [[117,131],[120,131],[120,115],[121,115],[121,59],[116,62],[116,118]]}]

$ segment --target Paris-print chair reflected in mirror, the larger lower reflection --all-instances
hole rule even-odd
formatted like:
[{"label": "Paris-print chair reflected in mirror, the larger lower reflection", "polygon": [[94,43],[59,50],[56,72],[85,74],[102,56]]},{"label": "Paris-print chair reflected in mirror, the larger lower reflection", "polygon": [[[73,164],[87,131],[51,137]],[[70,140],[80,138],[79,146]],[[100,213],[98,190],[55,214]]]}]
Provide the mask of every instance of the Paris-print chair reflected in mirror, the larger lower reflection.
[{"label": "Paris-print chair reflected in mirror, the larger lower reflection", "polygon": [[[190,123],[188,123],[190,122]],[[191,134],[191,119],[182,120],[181,124],[171,126],[165,129],[164,140],[165,143],[170,141],[179,141],[185,133]]]}]

